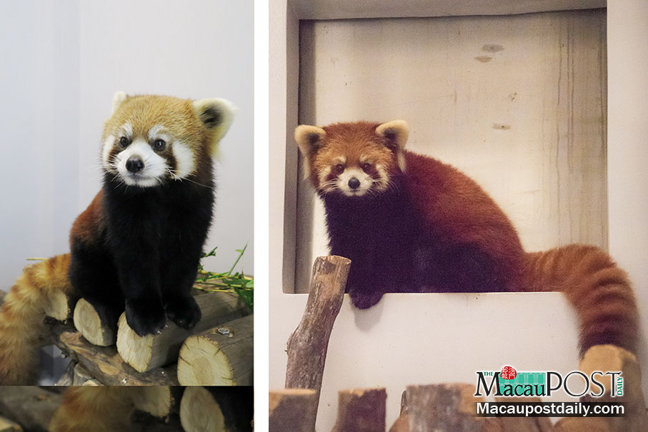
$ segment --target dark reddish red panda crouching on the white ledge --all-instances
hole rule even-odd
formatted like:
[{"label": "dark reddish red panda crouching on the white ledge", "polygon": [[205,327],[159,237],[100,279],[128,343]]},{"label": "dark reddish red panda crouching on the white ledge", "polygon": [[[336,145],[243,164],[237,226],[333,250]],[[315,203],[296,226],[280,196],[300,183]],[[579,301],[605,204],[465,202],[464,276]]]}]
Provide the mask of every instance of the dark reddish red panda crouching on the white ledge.
[{"label": "dark reddish red panda crouching on the white ledge", "polygon": [[354,306],[387,292],[562,291],[579,316],[581,353],[602,343],[634,352],[634,294],[607,253],[526,253],[494,200],[453,166],[405,150],[408,134],[402,120],[295,130],[330,251],[352,260]]}]

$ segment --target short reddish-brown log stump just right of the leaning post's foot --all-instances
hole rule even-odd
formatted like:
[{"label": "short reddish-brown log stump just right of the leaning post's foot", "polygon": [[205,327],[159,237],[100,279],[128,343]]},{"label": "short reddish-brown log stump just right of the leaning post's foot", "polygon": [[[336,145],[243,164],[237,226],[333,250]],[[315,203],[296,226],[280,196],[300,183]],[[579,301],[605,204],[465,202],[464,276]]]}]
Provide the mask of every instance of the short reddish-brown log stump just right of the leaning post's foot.
[{"label": "short reddish-brown log stump just right of the leaning post's foot", "polygon": [[386,403],[387,391],[384,388],[339,391],[333,432],[384,431]]}]

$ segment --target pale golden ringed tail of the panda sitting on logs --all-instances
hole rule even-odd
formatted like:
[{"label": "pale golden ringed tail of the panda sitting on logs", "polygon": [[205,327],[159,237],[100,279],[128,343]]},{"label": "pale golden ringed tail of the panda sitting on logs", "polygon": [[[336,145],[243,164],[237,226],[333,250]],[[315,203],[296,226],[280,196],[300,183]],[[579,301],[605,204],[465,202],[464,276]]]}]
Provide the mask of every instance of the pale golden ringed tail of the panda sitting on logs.
[{"label": "pale golden ringed tail of the panda sitting on logs", "polygon": [[56,291],[71,293],[70,254],[26,266],[0,307],[0,385],[34,383],[45,307]]}]

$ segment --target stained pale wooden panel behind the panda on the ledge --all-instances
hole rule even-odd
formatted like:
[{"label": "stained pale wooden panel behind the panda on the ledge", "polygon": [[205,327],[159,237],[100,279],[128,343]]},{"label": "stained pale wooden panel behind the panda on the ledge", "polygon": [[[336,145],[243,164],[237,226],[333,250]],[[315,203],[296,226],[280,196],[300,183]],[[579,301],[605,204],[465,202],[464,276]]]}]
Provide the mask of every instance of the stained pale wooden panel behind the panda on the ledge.
[{"label": "stained pale wooden panel behind the panda on the ledge", "polygon": [[[528,250],[607,248],[605,11],[301,21],[299,121],[405,119],[409,149],[476,179]],[[296,291],[327,254],[299,181]]]}]

